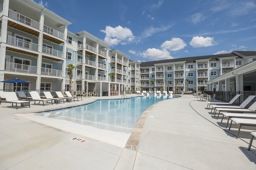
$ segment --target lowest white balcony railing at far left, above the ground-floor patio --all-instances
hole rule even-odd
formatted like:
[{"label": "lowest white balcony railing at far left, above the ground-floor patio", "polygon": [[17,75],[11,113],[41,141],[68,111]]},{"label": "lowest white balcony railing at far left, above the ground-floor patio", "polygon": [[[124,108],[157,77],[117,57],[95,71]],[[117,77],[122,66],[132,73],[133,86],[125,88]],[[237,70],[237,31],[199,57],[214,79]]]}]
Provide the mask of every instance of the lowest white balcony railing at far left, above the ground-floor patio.
[{"label": "lowest white balcony railing at far left, above the ground-floor patio", "polygon": [[37,74],[37,67],[31,65],[17,64],[13,62],[5,62],[5,71]]}]

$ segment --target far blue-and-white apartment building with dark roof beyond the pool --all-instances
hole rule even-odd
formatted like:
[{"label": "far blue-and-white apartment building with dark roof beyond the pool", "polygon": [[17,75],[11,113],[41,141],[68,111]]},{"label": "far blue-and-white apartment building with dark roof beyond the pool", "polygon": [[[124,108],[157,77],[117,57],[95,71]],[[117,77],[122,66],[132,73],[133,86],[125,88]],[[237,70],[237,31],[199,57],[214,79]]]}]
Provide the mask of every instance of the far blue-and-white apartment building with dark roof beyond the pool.
[{"label": "far blue-and-white apartment building with dark roof beyond the pool", "polygon": [[140,85],[142,90],[152,87],[158,91],[167,88],[169,91],[216,90],[216,86],[208,89],[207,82],[253,60],[256,60],[256,51],[142,62]]}]

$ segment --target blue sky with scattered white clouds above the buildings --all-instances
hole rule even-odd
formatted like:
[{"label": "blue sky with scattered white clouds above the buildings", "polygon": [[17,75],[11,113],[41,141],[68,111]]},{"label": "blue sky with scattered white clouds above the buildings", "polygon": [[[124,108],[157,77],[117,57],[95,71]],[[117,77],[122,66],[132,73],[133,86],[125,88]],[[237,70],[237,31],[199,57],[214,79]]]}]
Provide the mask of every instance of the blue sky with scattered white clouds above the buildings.
[{"label": "blue sky with scattered white clouds above the buildings", "polygon": [[256,51],[256,0],[34,0],[140,62]]}]

